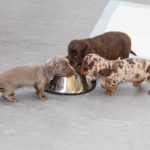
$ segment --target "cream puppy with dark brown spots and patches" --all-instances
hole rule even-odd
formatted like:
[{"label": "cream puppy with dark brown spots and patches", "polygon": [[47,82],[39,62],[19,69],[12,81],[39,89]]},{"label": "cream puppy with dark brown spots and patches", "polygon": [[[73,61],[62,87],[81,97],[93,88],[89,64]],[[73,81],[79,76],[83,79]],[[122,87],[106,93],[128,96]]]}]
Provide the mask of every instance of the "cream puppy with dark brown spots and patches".
[{"label": "cream puppy with dark brown spots and patches", "polygon": [[88,81],[98,77],[105,79],[101,86],[107,90],[108,95],[112,95],[121,82],[130,81],[134,86],[139,86],[144,80],[150,82],[150,61],[140,58],[110,61],[93,53],[85,56],[80,73]]}]

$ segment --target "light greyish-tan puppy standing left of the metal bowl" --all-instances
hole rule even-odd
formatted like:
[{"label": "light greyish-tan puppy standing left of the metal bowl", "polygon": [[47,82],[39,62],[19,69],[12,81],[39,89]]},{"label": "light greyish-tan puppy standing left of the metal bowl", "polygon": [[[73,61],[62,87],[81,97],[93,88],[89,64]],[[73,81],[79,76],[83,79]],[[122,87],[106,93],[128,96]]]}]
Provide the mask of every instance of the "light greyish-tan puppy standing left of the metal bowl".
[{"label": "light greyish-tan puppy standing left of the metal bowl", "polygon": [[48,99],[44,88],[54,76],[70,76],[75,73],[69,61],[62,56],[48,60],[43,65],[19,66],[0,74],[2,97],[11,102],[17,100],[15,90],[23,86],[34,86],[40,99]]}]

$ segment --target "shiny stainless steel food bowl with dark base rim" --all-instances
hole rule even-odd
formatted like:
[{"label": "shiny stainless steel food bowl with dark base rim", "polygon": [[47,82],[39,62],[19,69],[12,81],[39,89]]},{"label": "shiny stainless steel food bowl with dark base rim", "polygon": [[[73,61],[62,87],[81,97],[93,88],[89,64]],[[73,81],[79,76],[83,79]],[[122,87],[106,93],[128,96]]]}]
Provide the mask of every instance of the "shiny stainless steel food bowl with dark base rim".
[{"label": "shiny stainless steel food bowl with dark base rim", "polygon": [[78,95],[93,90],[95,86],[96,81],[87,82],[84,76],[55,76],[54,79],[46,86],[45,91],[61,95]]}]

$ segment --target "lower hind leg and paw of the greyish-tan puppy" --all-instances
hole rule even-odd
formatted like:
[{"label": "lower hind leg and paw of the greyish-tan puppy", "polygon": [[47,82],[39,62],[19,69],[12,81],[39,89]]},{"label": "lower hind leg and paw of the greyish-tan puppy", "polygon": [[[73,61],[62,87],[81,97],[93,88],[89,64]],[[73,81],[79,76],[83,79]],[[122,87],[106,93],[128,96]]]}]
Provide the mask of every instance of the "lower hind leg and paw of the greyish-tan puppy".
[{"label": "lower hind leg and paw of the greyish-tan puppy", "polygon": [[17,97],[15,96],[15,93],[13,90],[4,89],[4,92],[2,92],[2,97],[6,98],[10,102],[17,101]]}]

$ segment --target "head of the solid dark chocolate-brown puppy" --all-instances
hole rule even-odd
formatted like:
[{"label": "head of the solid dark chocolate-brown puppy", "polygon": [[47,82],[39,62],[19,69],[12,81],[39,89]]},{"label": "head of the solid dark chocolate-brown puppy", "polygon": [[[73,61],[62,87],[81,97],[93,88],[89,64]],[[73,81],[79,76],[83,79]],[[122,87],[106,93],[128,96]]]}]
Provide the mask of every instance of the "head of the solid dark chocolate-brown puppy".
[{"label": "head of the solid dark chocolate-brown puppy", "polygon": [[73,40],[69,43],[67,58],[75,69],[81,65],[86,48],[87,44],[84,40]]}]

